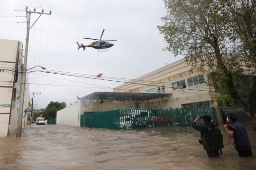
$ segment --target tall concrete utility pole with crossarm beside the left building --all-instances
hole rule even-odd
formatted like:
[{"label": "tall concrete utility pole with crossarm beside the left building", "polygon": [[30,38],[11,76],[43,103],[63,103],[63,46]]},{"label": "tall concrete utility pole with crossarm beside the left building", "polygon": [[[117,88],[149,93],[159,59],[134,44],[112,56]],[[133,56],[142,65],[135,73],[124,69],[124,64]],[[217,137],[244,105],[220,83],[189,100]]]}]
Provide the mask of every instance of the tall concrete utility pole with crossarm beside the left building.
[{"label": "tall concrete utility pole with crossarm beside the left building", "polygon": [[[24,109],[24,97],[25,97],[26,73],[27,73],[26,69],[27,69],[27,51],[28,51],[29,31],[32,28],[32,26],[35,25],[35,23],[37,22],[39,17],[41,17],[41,15],[43,15],[43,14],[51,15],[52,11],[50,10],[50,13],[44,13],[44,10],[42,9],[42,12],[40,13],[40,12],[36,12],[36,9],[34,8],[34,12],[31,12],[30,10],[27,11],[27,7],[26,7],[26,14],[27,13],[28,13],[28,17],[27,17],[27,37],[26,37],[24,64],[21,67],[21,84],[20,84],[20,101],[19,101],[19,114],[18,114],[18,130],[17,130],[16,137],[20,137],[21,136],[21,129],[22,129],[22,116],[23,116],[23,109]],[[35,23],[30,27],[30,16],[31,16],[31,13],[41,14],[41,15],[37,18]]]}]

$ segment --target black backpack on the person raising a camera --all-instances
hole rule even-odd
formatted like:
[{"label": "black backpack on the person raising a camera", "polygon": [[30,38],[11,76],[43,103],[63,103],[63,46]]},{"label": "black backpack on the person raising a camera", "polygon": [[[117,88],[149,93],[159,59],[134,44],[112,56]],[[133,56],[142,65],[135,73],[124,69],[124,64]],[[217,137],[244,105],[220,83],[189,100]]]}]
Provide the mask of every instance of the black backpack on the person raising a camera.
[{"label": "black backpack on the person raising a camera", "polygon": [[212,149],[224,148],[223,136],[218,127],[208,127],[208,142]]}]

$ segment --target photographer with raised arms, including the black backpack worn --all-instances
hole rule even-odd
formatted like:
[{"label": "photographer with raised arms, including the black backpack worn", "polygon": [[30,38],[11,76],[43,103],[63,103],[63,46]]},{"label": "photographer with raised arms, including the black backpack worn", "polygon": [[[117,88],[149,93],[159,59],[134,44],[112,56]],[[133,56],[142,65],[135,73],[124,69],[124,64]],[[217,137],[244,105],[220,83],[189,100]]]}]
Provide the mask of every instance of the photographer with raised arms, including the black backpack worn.
[{"label": "photographer with raised arms, including the black backpack worn", "polygon": [[[203,118],[203,124],[197,124],[199,119]],[[223,137],[217,124],[211,120],[211,117],[208,115],[204,115],[203,117],[197,116],[196,119],[192,122],[192,127],[201,132],[201,140],[200,143],[203,145],[204,150],[209,157],[219,156],[219,149],[221,152],[221,148],[223,145]],[[214,134],[215,136],[212,136]]]}]

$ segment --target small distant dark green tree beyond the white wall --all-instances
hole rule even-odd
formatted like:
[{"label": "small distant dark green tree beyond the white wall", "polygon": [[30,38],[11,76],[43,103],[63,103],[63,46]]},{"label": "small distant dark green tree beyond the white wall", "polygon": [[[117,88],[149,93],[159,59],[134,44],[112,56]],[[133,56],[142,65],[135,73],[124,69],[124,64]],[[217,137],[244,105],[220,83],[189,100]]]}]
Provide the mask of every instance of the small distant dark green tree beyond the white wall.
[{"label": "small distant dark green tree beyond the white wall", "polygon": [[44,115],[46,117],[46,119],[54,119],[56,118],[57,115],[57,111],[62,110],[66,107],[66,103],[65,102],[50,102],[47,107],[46,110],[44,111]]}]

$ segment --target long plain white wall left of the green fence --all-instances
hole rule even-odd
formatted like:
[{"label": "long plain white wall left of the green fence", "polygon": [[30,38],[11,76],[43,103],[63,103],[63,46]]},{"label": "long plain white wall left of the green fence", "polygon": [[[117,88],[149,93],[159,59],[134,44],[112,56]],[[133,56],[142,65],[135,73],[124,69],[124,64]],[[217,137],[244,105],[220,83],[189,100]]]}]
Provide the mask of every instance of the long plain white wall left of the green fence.
[{"label": "long plain white wall left of the green fence", "polygon": [[57,111],[57,125],[80,126],[80,102]]}]

